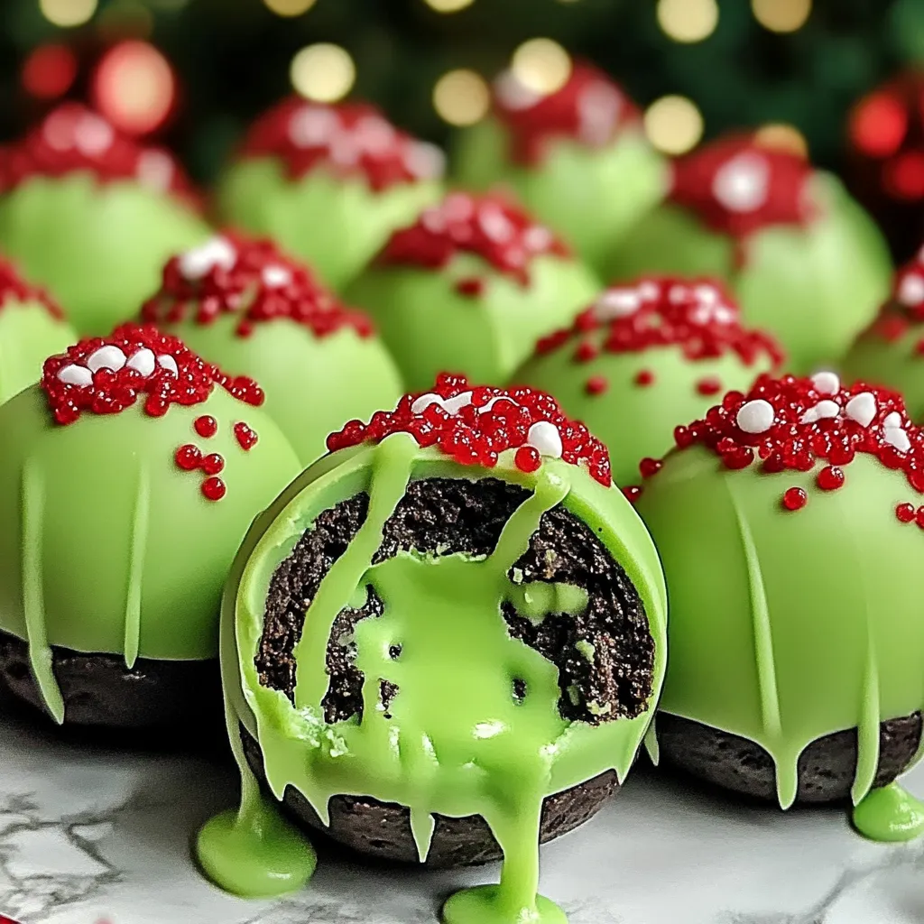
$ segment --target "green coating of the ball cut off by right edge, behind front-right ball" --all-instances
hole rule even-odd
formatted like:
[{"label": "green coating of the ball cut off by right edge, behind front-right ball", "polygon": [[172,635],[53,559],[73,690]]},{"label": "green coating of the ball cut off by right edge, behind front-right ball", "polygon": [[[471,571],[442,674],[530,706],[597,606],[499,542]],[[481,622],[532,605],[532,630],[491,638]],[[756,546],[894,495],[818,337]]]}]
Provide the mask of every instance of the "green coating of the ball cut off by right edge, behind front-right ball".
[{"label": "green coating of the ball cut off by right edge, behind front-right ball", "polygon": [[910,323],[895,340],[886,340],[874,329],[864,331],[841,364],[845,379],[901,392],[910,418],[924,423],[924,354],[918,350],[922,338],[924,324]]}]

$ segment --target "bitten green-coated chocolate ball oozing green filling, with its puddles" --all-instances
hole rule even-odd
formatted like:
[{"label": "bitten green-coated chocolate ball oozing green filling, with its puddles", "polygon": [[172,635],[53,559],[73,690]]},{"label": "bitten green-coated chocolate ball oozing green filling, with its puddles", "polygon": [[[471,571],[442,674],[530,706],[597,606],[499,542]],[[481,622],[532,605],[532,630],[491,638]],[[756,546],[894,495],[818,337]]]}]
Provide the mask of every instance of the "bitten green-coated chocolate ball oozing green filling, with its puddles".
[{"label": "bitten green-coated chocolate ball oozing green filling, with its puddles", "polygon": [[539,844],[625,779],[661,685],[650,538],[603,445],[529,388],[442,376],[328,445],[232,573],[244,803],[203,829],[202,866],[238,893],[283,887],[279,857],[287,884],[304,879],[295,832],[246,821],[270,812],[262,784],[367,856],[502,857],[501,884],[453,896],[449,920],[550,913]]}]

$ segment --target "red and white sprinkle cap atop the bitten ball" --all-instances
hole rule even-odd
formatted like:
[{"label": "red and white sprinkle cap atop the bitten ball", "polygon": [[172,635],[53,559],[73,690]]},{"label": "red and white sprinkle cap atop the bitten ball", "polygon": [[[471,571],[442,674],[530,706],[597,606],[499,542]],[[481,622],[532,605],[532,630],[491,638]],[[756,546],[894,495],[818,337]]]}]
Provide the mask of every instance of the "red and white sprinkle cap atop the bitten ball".
[{"label": "red and white sprinkle cap atop the bitten ball", "polygon": [[532,388],[472,386],[461,375],[440,375],[432,392],[405,395],[393,411],[377,411],[369,423],[350,420],[327,437],[334,452],[361,443],[381,443],[392,433],[410,433],[419,446],[438,446],[460,465],[493,468],[515,449],[514,464],[535,471],[542,458],[585,465],[603,485],[612,481],[606,447],[584,424],[565,417],[551,395]]}]

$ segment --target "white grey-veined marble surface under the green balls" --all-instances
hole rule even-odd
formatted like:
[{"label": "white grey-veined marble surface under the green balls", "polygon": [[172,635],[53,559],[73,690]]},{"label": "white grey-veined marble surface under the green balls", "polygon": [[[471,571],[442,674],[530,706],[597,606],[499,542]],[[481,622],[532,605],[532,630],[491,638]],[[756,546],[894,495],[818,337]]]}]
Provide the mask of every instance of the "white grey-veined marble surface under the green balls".
[{"label": "white grey-veined marble surface under the green balls", "polygon": [[[924,769],[908,777],[924,796]],[[303,893],[247,902],[203,881],[189,842],[233,803],[219,761],[74,745],[0,719],[0,913],[25,924],[435,924],[496,869],[366,869],[322,852]],[[743,807],[637,772],[543,849],[571,924],[920,924],[924,843],[876,845],[838,809]]]}]

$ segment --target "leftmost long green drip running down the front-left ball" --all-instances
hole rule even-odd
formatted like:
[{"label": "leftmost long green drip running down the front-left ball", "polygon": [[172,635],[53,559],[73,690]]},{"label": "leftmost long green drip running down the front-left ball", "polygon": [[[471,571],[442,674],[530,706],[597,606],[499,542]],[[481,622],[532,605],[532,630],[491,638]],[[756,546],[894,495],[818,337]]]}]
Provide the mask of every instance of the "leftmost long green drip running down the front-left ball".
[{"label": "leftmost long green drip running down the front-left ball", "polygon": [[64,722],[64,698],[52,669],[52,650],[45,631],[43,523],[45,484],[42,469],[31,459],[22,467],[22,612],[26,620],[29,663],[48,711]]}]

